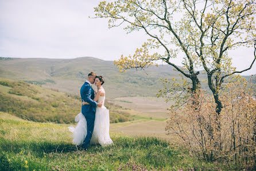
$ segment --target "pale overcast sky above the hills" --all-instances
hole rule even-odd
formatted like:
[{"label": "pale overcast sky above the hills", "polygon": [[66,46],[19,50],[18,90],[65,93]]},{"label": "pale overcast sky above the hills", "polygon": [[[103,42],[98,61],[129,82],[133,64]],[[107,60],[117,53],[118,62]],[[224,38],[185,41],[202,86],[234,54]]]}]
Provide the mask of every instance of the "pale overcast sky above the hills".
[{"label": "pale overcast sky above the hills", "polygon": [[[0,56],[70,59],[91,56],[117,60],[147,40],[145,33],[108,29],[106,19],[92,19],[98,0],[0,0]],[[231,53],[234,66],[249,67],[253,49]],[[180,65],[181,60],[174,63]],[[243,73],[256,73],[254,67]]]}]

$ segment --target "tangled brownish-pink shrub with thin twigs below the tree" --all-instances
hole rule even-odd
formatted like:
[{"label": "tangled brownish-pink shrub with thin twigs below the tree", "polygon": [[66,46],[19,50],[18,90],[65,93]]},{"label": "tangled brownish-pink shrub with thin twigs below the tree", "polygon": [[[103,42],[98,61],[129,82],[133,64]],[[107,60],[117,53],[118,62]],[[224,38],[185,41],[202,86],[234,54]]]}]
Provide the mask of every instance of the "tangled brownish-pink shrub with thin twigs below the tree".
[{"label": "tangled brownish-pink shrub with thin twigs below the tree", "polygon": [[214,98],[197,92],[182,114],[171,111],[166,130],[179,135],[198,158],[224,161],[232,169],[256,169],[255,87],[249,85],[244,79],[223,88],[220,115]]}]

